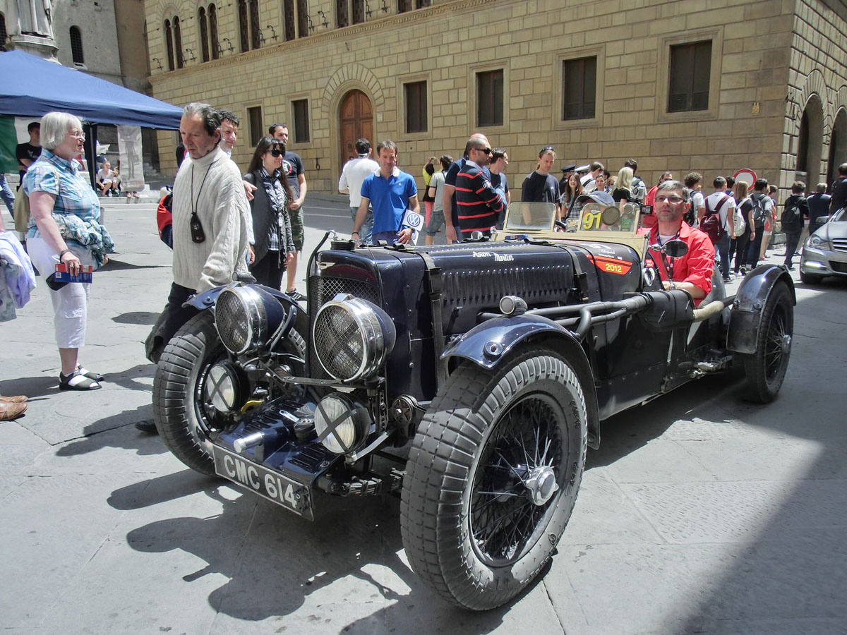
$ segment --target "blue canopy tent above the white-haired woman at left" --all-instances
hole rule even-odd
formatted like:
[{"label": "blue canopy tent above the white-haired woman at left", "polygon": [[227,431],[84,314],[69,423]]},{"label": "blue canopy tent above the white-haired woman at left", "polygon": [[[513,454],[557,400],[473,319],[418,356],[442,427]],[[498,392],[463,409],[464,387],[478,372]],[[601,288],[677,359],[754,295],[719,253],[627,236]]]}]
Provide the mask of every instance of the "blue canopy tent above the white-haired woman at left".
[{"label": "blue canopy tent above the white-haired woman at left", "polygon": [[0,114],[38,117],[53,111],[84,120],[86,158],[91,166],[96,165],[97,124],[179,130],[182,115],[182,108],[36,55],[0,52]]}]

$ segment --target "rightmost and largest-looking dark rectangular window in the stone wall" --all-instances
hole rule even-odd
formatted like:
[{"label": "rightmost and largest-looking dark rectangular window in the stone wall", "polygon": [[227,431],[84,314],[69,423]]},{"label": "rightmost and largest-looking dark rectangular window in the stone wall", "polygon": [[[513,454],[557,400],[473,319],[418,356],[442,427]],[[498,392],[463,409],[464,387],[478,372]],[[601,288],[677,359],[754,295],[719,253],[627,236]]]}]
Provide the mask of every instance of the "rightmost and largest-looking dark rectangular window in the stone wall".
[{"label": "rightmost and largest-looking dark rectangular window in the stone wall", "polygon": [[686,113],[709,109],[711,41],[671,47],[667,112]]}]

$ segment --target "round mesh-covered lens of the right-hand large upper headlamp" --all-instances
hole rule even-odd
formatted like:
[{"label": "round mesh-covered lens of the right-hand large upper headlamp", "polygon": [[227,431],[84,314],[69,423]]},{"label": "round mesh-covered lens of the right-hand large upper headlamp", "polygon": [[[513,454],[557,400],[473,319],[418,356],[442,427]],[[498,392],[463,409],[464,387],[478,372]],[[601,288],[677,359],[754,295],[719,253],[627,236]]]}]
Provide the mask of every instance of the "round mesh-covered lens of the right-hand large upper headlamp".
[{"label": "round mesh-covered lens of the right-hand large upper headlamp", "polygon": [[342,306],[327,306],[315,320],[315,351],[320,361],[335,378],[342,381],[357,375],[362,367],[362,336],[351,313]]}]

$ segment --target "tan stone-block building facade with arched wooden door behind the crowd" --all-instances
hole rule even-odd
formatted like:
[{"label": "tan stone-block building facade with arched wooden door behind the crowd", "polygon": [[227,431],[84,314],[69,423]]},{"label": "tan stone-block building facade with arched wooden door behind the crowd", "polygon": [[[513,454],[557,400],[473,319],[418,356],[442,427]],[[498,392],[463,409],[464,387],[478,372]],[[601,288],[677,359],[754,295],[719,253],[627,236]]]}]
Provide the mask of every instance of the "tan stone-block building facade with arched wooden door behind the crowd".
[{"label": "tan stone-block building facade with arched wooden door behind the crowd", "polygon": [[[561,163],[752,168],[783,191],[847,161],[847,6],[834,0],[147,0],[152,94],[242,119],[235,160],[285,122],[309,189],[357,135],[418,176],[482,131],[519,187]],[[178,29],[177,29],[178,25]],[[177,44],[179,43],[179,50]],[[208,59],[208,61],[206,61]],[[177,135],[159,133],[163,171]],[[420,183],[418,185],[421,185]]]}]

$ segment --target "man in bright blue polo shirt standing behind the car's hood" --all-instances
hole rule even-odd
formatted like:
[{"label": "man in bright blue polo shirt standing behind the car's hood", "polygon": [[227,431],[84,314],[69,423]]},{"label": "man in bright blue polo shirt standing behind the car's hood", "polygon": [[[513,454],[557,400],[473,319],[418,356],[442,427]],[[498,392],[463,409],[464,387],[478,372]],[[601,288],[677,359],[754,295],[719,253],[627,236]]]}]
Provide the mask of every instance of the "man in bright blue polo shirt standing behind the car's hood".
[{"label": "man in bright blue polo shirt standing behind the car's hood", "polygon": [[401,230],[407,209],[418,212],[418,187],[412,174],[397,168],[397,144],[382,141],[376,146],[379,172],[366,177],[362,183],[362,202],[353,223],[352,238],[359,239],[359,229],[368,216],[368,205],[374,208],[374,245],[379,240],[407,244],[412,240],[412,228]]}]

